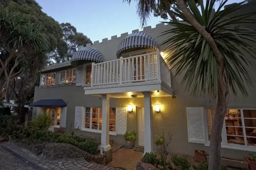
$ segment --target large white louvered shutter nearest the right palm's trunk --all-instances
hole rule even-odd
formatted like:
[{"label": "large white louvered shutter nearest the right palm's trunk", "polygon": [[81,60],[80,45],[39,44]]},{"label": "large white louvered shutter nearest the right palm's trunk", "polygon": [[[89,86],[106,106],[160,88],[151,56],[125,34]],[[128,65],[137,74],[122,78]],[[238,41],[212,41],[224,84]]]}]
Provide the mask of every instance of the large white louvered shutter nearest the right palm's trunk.
[{"label": "large white louvered shutter nearest the right palm's trunk", "polygon": [[204,108],[187,107],[188,142],[205,143]]}]

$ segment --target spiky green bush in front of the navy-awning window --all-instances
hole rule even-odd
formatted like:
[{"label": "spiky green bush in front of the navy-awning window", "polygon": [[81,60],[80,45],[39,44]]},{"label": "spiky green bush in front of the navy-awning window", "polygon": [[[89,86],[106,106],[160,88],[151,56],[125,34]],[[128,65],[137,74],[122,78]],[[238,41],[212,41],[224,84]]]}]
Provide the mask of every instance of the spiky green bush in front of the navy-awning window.
[{"label": "spiky green bush in front of the navy-awning window", "polygon": [[48,130],[52,125],[52,118],[47,114],[38,114],[36,119],[31,121],[32,129]]}]

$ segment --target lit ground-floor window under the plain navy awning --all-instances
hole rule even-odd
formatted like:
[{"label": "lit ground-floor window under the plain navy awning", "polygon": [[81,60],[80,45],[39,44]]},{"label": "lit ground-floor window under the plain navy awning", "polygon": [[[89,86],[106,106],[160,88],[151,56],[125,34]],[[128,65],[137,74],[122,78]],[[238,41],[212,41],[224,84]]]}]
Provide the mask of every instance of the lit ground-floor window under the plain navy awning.
[{"label": "lit ground-floor window under the plain navy awning", "polygon": [[42,113],[51,116],[52,125],[60,126],[60,107],[42,107]]}]

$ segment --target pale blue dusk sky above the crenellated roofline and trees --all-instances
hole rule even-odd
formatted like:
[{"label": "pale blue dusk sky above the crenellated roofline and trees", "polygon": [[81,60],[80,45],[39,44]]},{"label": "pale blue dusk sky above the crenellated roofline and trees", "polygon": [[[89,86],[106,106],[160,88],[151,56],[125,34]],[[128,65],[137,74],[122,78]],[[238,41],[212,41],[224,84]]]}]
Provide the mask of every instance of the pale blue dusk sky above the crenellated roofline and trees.
[{"label": "pale blue dusk sky above the crenellated roofline and trees", "polygon": [[[78,32],[87,35],[92,42],[121,33],[132,33],[140,29],[140,20],[136,15],[136,3],[132,0],[130,6],[123,0],[36,0],[43,11],[59,23],[69,22]],[[227,4],[241,2],[229,0]],[[218,7],[218,3],[216,3]],[[160,17],[151,17],[148,26],[155,27],[163,21]]]}]

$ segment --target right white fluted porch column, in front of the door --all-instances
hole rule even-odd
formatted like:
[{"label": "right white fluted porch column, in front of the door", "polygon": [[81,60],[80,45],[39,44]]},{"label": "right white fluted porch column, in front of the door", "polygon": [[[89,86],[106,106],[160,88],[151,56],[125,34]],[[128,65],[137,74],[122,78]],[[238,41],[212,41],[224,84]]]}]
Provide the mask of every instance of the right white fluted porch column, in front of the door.
[{"label": "right white fluted porch column, in front of the door", "polygon": [[145,136],[144,136],[144,153],[153,152],[153,126],[152,126],[152,106],[151,95],[153,92],[142,92],[144,95],[144,120],[145,120]]}]

